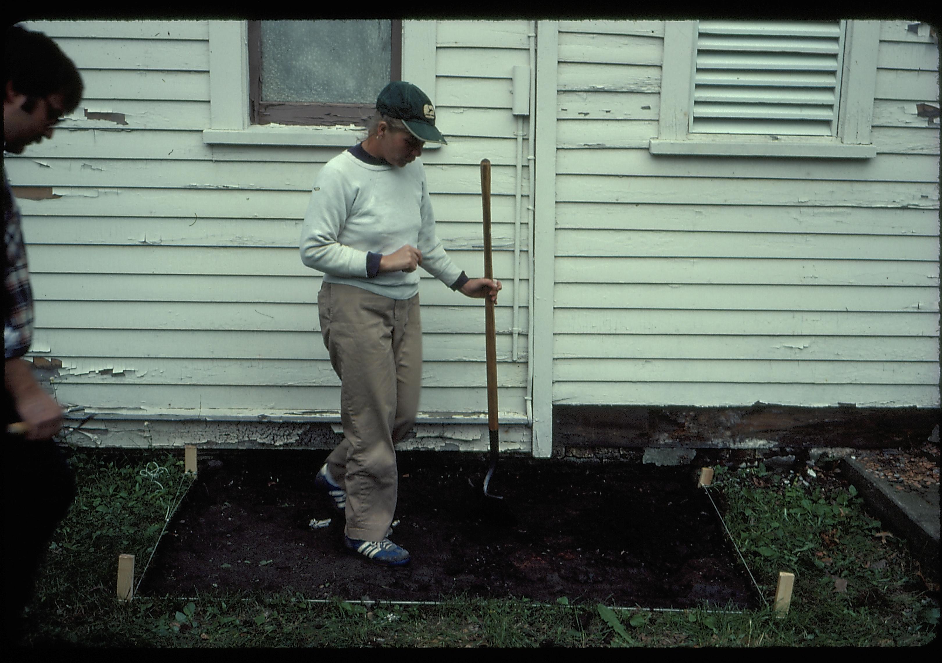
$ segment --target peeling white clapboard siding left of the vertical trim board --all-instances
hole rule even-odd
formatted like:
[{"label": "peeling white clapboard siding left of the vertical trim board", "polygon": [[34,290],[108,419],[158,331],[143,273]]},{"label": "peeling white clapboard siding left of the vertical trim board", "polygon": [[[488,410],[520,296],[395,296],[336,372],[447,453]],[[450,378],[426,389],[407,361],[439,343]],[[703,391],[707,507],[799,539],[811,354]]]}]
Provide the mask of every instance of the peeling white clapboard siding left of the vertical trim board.
[{"label": "peeling white clapboard siding left of the vertical trim board", "polygon": [[[57,397],[154,416],[336,415],[321,275],[301,264],[298,240],[317,172],[344,148],[207,144],[206,21],[30,26],[56,39],[85,81],[55,138],[7,159],[37,299],[34,354],[62,364]],[[519,418],[530,202],[526,148],[517,181],[511,68],[528,64],[529,22],[439,28],[429,91],[448,145],[423,154],[437,232],[459,267],[482,273],[479,163],[490,159],[501,411]],[[420,272],[423,416],[486,412],[483,302]]]}]

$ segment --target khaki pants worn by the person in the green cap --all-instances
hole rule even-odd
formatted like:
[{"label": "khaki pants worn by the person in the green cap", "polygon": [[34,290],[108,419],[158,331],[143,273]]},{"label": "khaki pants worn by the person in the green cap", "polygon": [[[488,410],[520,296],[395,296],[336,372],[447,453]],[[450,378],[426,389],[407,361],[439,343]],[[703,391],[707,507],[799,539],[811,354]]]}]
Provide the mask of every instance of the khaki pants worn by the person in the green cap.
[{"label": "khaki pants worn by the person in the green cap", "polygon": [[389,299],[353,285],[324,283],[320,331],[340,378],[344,441],[327,458],[347,491],[347,536],[382,541],[398,492],[393,445],[415,423],[422,387],[418,295]]}]

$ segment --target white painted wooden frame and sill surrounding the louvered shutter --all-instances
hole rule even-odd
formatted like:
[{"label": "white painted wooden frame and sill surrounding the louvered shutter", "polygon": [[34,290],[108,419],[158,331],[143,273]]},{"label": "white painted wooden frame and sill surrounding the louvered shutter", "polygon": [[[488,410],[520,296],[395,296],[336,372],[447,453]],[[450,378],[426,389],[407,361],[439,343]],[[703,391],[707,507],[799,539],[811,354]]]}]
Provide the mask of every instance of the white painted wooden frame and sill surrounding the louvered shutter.
[{"label": "white painted wooden frame and sill surrounding the louvered shutter", "polygon": [[870,126],[880,45],[879,21],[847,22],[837,135],[833,137],[691,134],[696,35],[696,21],[668,21],[664,26],[658,137],[650,141],[651,154],[853,159],[876,156],[876,147],[870,143]]}]

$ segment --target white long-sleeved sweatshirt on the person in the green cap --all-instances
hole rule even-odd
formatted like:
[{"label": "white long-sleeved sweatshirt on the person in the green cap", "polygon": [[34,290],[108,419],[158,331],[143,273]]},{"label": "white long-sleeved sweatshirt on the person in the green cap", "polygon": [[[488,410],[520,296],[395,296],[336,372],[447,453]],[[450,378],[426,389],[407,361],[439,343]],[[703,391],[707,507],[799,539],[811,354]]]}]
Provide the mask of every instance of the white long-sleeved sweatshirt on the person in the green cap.
[{"label": "white long-sleeved sweatshirt on the person in the green cap", "polygon": [[369,252],[387,255],[409,244],[422,251],[422,267],[451,286],[462,274],[435,236],[422,162],[404,168],[374,166],[344,151],[317,173],[300,234],[300,259],[345,283],[390,299],[418,292],[418,271],[366,275]]}]

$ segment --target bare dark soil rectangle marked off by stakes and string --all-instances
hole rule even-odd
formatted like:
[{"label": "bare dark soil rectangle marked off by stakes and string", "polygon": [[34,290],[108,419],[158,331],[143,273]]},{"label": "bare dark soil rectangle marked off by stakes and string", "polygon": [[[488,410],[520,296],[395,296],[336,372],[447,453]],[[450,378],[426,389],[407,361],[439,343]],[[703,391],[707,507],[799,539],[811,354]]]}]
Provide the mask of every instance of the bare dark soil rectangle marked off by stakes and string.
[{"label": "bare dark soil rectangle marked off by stakes and string", "polygon": [[387,569],[345,553],[339,528],[309,526],[332,516],[311,489],[325,456],[201,456],[199,477],[140,593],[430,601],[464,592],[619,606],[758,606],[692,466],[508,457],[490,487],[503,500],[481,509],[483,456],[400,453],[399,522],[390,538],[413,560]]}]

